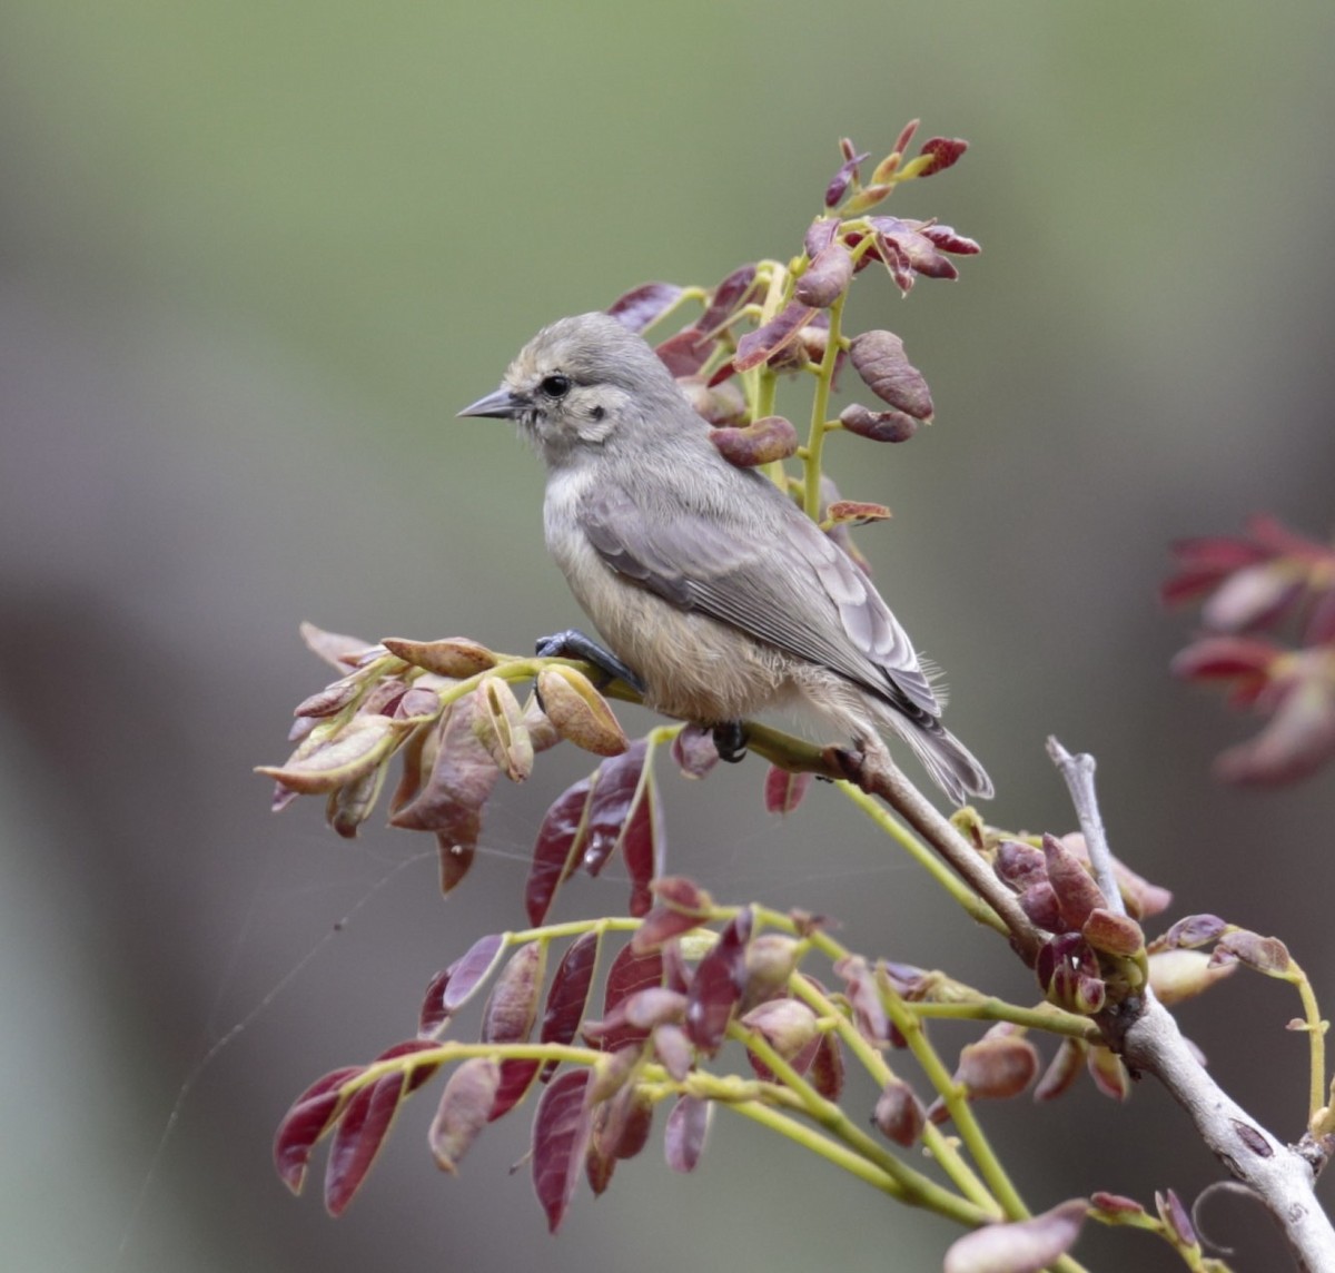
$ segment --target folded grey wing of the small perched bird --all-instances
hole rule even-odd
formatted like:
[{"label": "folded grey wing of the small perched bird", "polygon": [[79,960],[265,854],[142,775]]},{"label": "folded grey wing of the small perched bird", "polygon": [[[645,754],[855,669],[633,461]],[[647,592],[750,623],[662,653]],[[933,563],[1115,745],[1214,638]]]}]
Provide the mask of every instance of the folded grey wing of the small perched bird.
[{"label": "folded grey wing of the small perched bird", "polygon": [[655,512],[610,482],[585,497],[579,520],[613,570],[673,605],[830,668],[910,716],[940,716],[908,633],[849,556],[765,478],[744,498],[773,501],[761,525],[717,509]]}]

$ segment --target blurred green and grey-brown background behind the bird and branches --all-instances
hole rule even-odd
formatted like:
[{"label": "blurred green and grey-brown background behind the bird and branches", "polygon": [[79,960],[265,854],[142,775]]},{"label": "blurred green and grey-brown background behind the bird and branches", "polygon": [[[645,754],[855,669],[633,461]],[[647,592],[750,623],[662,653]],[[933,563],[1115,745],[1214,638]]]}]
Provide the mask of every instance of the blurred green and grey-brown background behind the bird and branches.
[{"label": "blurred green and grey-brown background behind the bird and branches", "polygon": [[[7,1268],[939,1266],[944,1222],[726,1117],[696,1175],[655,1146],[558,1240],[506,1170],[525,1117],[438,1178],[430,1095],[343,1220],[318,1189],[287,1197],[268,1165],[287,1102],[410,1034],[426,979],[514,922],[542,809],[587,765],[543,757],[501,791],[447,903],[414,836],[347,844],[314,803],[272,820],[248,772],[326,679],[300,618],[502,649],[575,621],[537,464],[455,410],[551,318],[793,252],[838,136],[882,154],[913,115],[973,148],[892,210],[984,255],[908,303],[860,285],[857,317],[904,335],[939,419],[909,447],[836,439],[844,493],[896,513],[862,548],[951,672],[995,820],[1068,830],[1043,740],[1093,751],[1115,847],[1176,914],[1279,932],[1330,1001],[1331,775],[1212,783],[1246,727],[1169,680],[1191,620],[1155,592],[1175,537],[1262,509],[1331,525],[1332,55],[1328,4],[8,0]],[[830,793],[776,827],[758,783],[665,773],[674,870],[1032,994]],[[607,879],[563,906],[622,899]],[[1185,1027],[1296,1137],[1298,1005],[1258,983]],[[1125,1110],[1085,1087],[988,1126],[1039,1206],[1219,1174],[1148,1085]],[[1280,1266],[1258,1210],[1204,1218],[1239,1268]],[[1128,1233],[1080,1253],[1177,1266]]]}]

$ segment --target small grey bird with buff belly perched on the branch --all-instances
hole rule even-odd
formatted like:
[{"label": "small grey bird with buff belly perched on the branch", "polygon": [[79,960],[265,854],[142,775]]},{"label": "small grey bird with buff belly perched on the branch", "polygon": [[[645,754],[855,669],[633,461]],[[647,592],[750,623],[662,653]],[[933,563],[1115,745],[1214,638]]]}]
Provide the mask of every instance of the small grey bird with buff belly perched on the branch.
[{"label": "small grey bird with buff belly perched on the branch", "polygon": [[459,414],[514,419],[533,438],[547,548],[617,657],[599,660],[579,633],[541,653],[591,656],[650,707],[701,725],[813,708],[864,763],[888,761],[889,731],[956,804],[992,795],[870,580],[772,481],[718,453],[658,355],[617,319],[545,327],[501,389]]}]

